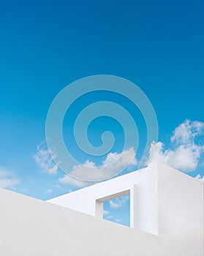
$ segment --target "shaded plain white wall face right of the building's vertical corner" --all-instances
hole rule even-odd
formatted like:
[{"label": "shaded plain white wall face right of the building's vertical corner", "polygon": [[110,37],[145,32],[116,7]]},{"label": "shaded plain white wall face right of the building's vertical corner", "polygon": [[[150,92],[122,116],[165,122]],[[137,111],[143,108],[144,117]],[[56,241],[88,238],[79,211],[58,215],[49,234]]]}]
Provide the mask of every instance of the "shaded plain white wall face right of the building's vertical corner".
[{"label": "shaded plain white wall face right of the building's vertical corner", "polygon": [[159,236],[166,238],[165,244],[172,244],[171,253],[191,244],[189,255],[200,255],[204,247],[203,182],[158,163],[158,184]]}]

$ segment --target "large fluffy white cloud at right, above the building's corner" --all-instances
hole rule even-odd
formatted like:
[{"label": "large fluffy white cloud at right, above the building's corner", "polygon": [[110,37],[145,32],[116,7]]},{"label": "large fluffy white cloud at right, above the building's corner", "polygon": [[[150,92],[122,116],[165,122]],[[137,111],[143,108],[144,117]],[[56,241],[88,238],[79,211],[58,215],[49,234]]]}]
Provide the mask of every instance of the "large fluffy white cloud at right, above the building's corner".
[{"label": "large fluffy white cloud at right, above the building's corner", "polygon": [[203,122],[184,121],[175,128],[170,138],[172,144],[170,149],[165,149],[165,144],[162,142],[151,143],[147,162],[164,162],[185,172],[195,170],[199,164],[200,155],[204,152],[204,146],[195,142],[200,135],[204,135]]}]

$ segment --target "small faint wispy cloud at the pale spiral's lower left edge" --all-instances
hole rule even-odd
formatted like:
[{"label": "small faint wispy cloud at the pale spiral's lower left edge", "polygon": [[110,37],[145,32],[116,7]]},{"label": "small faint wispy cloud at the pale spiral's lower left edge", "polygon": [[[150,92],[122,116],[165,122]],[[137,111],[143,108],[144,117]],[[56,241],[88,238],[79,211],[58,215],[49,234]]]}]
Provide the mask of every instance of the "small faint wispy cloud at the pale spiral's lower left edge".
[{"label": "small faint wispy cloud at the pale spiral's lower left edge", "polygon": [[34,161],[42,168],[42,170],[45,170],[46,173],[56,174],[58,166],[53,162],[55,157],[52,158],[50,152],[50,148],[45,149],[43,143],[40,143],[37,146],[37,152],[34,154]]}]

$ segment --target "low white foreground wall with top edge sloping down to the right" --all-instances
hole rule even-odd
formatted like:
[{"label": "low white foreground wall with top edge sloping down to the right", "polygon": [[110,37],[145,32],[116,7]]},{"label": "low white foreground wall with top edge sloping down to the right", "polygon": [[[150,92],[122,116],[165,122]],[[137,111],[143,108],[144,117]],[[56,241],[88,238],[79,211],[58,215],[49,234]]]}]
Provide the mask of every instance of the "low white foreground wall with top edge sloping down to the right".
[{"label": "low white foreground wall with top edge sloping down to the right", "polygon": [[1,256],[165,255],[156,236],[6,189],[0,205]]}]

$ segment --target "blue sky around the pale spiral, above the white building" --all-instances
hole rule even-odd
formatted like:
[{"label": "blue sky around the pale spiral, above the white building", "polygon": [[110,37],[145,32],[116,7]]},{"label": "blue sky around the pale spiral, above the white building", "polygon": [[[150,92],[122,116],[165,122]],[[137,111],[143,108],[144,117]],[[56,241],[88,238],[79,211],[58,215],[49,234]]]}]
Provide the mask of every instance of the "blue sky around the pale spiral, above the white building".
[{"label": "blue sky around the pale spiral, above the white building", "polygon": [[[126,78],[145,92],[159,124],[157,159],[171,164],[174,152],[179,151],[180,159],[189,154],[189,170],[183,162],[178,167],[202,178],[203,7],[203,1],[1,1],[1,187],[47,200],[83,186],[66,182],[64,173],[49,162],[45,120],[61,89],[99,74]],[[72,106],[69,116],[102,99],[121,102],[137,120],[140,158],[145,122],[126,99],[105,92],[88,95],[79,99],[80,107]],[[65,140],[72,132],[66,120]],[[119,153],[123,131],[110,118],[91,124],[91,143],[101,143],[105,124],[120,138],[110,152]],[[74,141],[70,148],[78,154]],[[38,162],[36,155],[41,157]],[[105,160],[78,157],[84,162]]]}]

